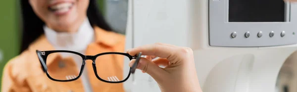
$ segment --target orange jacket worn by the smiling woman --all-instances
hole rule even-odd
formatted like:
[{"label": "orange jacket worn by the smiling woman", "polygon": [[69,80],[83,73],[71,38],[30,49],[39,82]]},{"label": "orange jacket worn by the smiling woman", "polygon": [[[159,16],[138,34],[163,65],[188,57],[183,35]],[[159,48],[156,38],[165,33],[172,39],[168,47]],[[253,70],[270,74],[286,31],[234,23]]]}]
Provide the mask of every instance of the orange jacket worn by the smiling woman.
[{"label": "orange jacket worn by the smiling woman", "polygon": [[[85,55],[96,55],[102,52],[124,52],[125,36],[114,32],[108,32],[95,27],[96,41],[86,49]],[[41,64],[36,54],[38,50],[54,50],[43,35],[32,43],[27,50],[11,59],[4,67],[2,77],[2,92],[84,92],[81,78],[72,82],[55,82],[50,80],[42,71]],[[100,62],[99,66],[107,69],[97,69],[102,73],[123,72],[123,58],[110,57],[104,60],[113,63]],[[50,62],[51,64],[57,61]],[[50,65],[48,68],[56,67]],[[77,69],[76,66],[71,66]],[[99,67],[97,67],[99,68]],[[88,71],[89,82],[93,92],[124,92],[123,84],[109,84],[101,82],[94,74],[92,61],[86,61],[85,68]]]}]

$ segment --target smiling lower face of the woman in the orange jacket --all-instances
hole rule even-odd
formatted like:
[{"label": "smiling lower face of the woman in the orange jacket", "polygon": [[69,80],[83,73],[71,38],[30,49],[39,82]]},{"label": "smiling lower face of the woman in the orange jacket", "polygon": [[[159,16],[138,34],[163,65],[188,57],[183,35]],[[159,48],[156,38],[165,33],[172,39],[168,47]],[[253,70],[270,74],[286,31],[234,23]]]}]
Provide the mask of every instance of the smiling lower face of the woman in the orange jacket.
[{"label": "smiling lower face of the woman in the orange jacket", "polygon": [[36,15],[49,28],[76,32],[87,17],[90,0],[29,0]]}]

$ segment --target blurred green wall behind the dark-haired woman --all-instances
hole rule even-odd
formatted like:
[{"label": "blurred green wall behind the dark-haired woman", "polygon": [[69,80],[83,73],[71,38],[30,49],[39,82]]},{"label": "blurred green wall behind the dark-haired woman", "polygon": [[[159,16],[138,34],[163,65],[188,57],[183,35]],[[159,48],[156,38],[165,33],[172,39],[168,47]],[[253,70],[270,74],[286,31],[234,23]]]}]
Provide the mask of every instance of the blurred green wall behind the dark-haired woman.
[{"label": "blurred green wall behind the dark-haired woman", "polygon": [[[98,3],[104,13],[105,0],[98,0]],[[19,54],[21,36],[19,19],[19,0],[0,0],[0,51],[3,55],[2,59],[0,58],[0,87],[5,63]]]}]

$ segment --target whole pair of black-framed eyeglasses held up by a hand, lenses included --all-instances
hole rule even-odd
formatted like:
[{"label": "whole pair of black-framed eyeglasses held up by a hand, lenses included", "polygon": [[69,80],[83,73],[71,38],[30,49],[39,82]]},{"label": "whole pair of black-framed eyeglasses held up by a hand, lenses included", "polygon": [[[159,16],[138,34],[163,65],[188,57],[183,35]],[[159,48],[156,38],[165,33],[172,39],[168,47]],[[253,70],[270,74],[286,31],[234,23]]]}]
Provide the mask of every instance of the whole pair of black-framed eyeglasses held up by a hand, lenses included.
[{"label": "whole pair of black-framed eyeglasses held up by a hand, lenses included", "polygon": [[[77,80],[83,73],[86,60],[92,60],[95,76],[106,83],[122,83],[135,73],[141,54],[131,56],[128,53],[104,52],[97,55],[83,55],[68,50],[36,50],[43,71],[50,80],[70,82]],[[136,59],[132,67],[126,67],[124,61]],[[80,65],[81,67],[76,67]],[[129,71],[125,73],[124,71]],[[123,73],[124,72],[124,73]]]}]

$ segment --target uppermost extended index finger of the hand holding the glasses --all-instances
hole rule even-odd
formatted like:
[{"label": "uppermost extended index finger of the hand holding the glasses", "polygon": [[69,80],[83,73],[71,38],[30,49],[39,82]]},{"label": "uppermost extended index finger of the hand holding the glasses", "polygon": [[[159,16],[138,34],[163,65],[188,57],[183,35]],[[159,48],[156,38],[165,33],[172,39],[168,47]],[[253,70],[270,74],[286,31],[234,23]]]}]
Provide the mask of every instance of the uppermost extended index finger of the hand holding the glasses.
[{"label": "uppermost extended index finger of the hand holding the glasses", "polygon": [[135,55],[139,52],[142,52],[143,55],[154,55],[161,58],[167,58],[173,56],[177,48],[171,46],[162,46],[162,45],[145,45],[139,46],[133,49],[130,49],[128,53],[130,55]]}]

